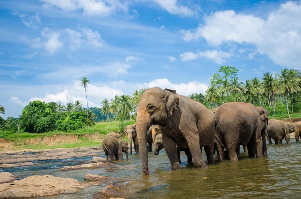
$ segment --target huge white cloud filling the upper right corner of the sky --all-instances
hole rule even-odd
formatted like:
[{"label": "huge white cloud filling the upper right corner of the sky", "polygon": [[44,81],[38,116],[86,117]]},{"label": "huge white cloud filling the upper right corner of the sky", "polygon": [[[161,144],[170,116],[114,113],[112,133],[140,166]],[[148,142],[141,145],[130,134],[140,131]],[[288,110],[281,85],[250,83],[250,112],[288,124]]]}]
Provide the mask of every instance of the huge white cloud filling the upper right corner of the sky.
[{"label": "huge white cloud filling the upper right corner of the sky", "polygon": [[[288,1],[269,13],[266,19],[218,11],[204,18],[195,30],[181,31],[186,41],[204,38],[210,45],[225,42],[254,44],[256,52],[266,54],[275,64],[301,69],[301,2]],[[253,59],[256,53],[249,53]]]}]

